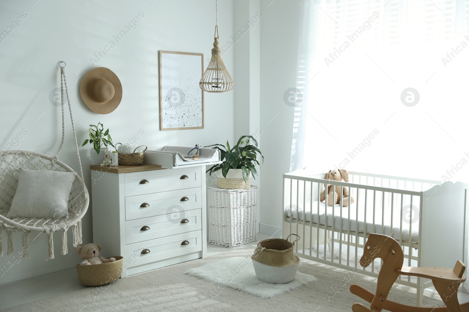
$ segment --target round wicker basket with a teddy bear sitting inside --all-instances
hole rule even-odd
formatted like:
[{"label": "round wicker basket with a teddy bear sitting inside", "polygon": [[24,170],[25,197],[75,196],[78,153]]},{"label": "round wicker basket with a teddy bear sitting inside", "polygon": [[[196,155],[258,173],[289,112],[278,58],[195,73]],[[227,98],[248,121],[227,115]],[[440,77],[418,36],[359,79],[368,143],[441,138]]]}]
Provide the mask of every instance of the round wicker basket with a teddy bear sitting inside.
[{"label": "round wicker basket with a teddy bear sitting inside", "polygon": [[76,265],[78,280],[85,286],[113,283],[122,274],[123,257],[103,258],[99,255],[101,245],[86,244],[75,249],[83,261]]}]

